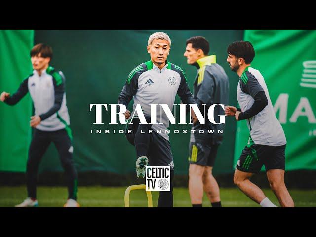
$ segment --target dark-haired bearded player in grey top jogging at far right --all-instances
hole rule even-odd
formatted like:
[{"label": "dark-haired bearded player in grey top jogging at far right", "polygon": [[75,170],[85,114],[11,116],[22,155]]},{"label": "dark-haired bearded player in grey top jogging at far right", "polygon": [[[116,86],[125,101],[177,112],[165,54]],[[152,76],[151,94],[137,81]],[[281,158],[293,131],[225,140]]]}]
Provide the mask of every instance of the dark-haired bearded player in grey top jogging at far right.
[{"label": "dark-haired bearded player in grey top jogging at far right", "polygon": [[225,114],[236,120],[247,119],[250,136],[243,149],[234,174],[234,183],[252,200],[263,207],[276,207],[262,190],[250,182],[250,177],[265,165],[270,187],[282,207],[293,207],[294,202],[284,183],[285,144],[283,129],[276,119],[267,85],[261,73],[250,67],[255,51],[248,41],[237,41],[228,46],[229,63],[239,76],[237,100],[240,109],[226,106]]}]

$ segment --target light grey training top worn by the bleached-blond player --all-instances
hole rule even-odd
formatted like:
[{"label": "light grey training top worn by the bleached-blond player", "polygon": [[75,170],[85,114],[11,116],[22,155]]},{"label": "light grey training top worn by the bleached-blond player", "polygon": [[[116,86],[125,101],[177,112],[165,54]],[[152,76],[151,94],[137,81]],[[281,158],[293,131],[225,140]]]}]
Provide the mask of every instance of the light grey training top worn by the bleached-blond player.
[{"label": "light grey training top worn by the bleached-blond player", "polygon": [[[166,61],[166,65],[160,70],[152,61],[148,61],[138,65],[129,74],[120,92],[118,104],[123,104],[127,108],[134,98],[131,115],[134,114],[136,104],[140,104],[144,115],[150,116],[150,104],[167,104],[172,111],[176,94],[184,104],[196,104],[184,72],[179,66]],[[158,134],[169,140],[168,134],[165,133],[169,127],[169,119],[164,111],[161,114],[160,106],[157,106],[157,123],[152,125],[152,129],[161,130],[161,134]]]}]

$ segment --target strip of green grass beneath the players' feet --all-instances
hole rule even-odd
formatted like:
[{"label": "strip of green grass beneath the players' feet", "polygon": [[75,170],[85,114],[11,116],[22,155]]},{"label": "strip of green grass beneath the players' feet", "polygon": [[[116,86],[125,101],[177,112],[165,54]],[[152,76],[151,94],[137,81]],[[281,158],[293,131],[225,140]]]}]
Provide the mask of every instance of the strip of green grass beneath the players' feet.
[{"label": "strip of green grass beneath the players' feet", "polygon": [[[81,207],[124,207],[124,193],[127,187],[79,186],[78,202]],[[263,190],[266,196],[279,206],[276,197],[269,189]],[[221,188],[223,207],[259,207],[237,188]],[[296,207],[316,207],[316,190],[289,190]],[[26,197],[25,186],[1,186],[0,207],[14,207]],[[157,206],[158,192],[152,192],[153,205]],[[174,188],[174,207],[191,207],[187,188]],[[37,189],[40,207],[62,207],[67,200],[66,187],[40,186]],[[144,190],[132,190],[130,193],[131,207],[147,206],[147,196]],[[203,206],[210,203],[204,195]]]}]

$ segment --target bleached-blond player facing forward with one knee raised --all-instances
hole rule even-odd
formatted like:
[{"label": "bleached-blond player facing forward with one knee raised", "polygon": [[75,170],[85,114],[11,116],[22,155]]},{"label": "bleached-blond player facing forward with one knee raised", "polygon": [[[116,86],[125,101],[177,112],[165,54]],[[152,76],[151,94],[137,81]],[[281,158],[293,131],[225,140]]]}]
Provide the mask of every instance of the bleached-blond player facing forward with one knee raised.
[{"label": "bleached-blond player facing forward with one knee raised", "polygon": [[[164,130],[169,126],[169,120],[163,113],[160,121],[160,108],[157,107],[157,122],[162,124],[150,124],[150,104],[167,104],[172,111],[176,94],[185,104],[196,104],[189,90],[183,70],[169,61],[171,40],[163,32],[156,32],[148,39],[147,51],[151,60],[137,66],[129,74],[128,79],[120,92],[118,104],[128,106],[134,98],[133,110],[136,104],[140,104],[148,124],[140,124],[139,118],[133,116],[128,121],[126,130],[127,140],[135,146],[137,161],[137,177],[145,176],[145,167],[148,162],[151,166],[170,166],[171,184],[170,191],[160,191],[158,207],[173,206],[173,157],[169,137]],[[134,111],[132,112],[133,115]],[[130,119],[130,111],[126,111],[125,118]],[[132,122],[132,124],[131,124]],[[131,130],[131,133],[128,131]],[[152,130],[152,133],[149,133]],[[163,130],[161,134],[157,130]]]}]

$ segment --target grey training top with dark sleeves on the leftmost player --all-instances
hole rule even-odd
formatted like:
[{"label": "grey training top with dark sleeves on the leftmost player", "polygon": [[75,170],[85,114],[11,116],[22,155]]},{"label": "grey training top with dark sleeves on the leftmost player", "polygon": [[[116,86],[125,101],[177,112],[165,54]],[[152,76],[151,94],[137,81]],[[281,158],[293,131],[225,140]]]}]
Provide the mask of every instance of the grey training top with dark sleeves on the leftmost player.
[{"label": "grey training top with dark sleeves on the leftmost player", "polygon": [[41,131],[57,131],[68,128],[70,119],[66,105],[65,77],[53,67],[48,67],[39,76],[36,70],[24,79],[19,89],[4,102],[15,105],[28,92],[33,100],[35,115],[41,122],[36,129]]}]

